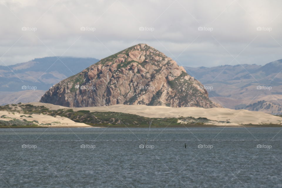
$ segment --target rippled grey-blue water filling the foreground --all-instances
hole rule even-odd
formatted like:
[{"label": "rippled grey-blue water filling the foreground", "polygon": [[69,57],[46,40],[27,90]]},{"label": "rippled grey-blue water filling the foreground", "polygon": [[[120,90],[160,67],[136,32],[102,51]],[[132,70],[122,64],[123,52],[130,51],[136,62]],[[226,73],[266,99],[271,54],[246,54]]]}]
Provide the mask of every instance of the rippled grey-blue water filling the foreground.
[{"label": "rippled grey-blue water filling the foreground", "polygon": [[0,187],[282,187],[280,130],[0,129]]}]

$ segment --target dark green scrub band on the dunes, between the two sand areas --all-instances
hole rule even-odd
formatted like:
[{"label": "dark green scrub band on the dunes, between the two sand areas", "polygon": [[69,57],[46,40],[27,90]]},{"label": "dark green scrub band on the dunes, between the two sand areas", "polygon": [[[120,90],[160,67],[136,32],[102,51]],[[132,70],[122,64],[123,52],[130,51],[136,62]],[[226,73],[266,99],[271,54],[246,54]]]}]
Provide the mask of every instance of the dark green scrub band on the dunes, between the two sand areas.
[{"label": "dark green scrub band on the dunes, between the two sand areas", "polygon": [[[75,122],[85,123],[91,126],[99,127],[147,127],[152,120],[152,127],[175,127],[183,126],[178,120],[189,122],[189,125],[204,125],[209,120],[206,118],[179,117],[179,118],[149,118],[134,114],[119,112],[90,112],[89,110],[73,111],[73,109],[50,110],[44,106],[33,105],[5,105],[0,106],[0,110],[24,113],[22,117],[28,117],[32,114],[44,114],[51,116],[67,117]],[[2,124],[0,124],[1,126]],[[28,124],[30,125],[30,124]]]}]

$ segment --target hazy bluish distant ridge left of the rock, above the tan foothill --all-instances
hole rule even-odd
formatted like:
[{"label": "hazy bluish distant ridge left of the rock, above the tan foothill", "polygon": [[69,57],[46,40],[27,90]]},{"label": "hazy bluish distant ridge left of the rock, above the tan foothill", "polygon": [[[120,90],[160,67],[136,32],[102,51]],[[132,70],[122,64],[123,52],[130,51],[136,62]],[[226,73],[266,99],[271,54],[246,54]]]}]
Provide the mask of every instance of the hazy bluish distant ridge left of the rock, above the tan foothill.
[{"label": "hazy bluish distant ridge left of the rock, above the tan foothill", "polygon": [[22,86],[36,86],[48,90],[53,84],[79,73],[93,63],[95,58],[45,57],[26,63],[0,66],[0,91],[22,91]]}]

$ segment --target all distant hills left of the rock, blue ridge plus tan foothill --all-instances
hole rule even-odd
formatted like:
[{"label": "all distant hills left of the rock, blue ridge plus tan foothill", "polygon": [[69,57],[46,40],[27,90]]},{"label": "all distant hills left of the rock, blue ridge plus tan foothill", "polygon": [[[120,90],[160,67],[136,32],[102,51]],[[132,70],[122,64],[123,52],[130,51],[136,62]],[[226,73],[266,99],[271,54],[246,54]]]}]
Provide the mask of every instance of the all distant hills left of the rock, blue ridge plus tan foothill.
[{"label": "all distant hills left of the rock, blue ridge plus tan foothill", "polygon": [[45,57],[0,66],[0,105],[37,102],[51,86],[98,61],[95,58]]}]

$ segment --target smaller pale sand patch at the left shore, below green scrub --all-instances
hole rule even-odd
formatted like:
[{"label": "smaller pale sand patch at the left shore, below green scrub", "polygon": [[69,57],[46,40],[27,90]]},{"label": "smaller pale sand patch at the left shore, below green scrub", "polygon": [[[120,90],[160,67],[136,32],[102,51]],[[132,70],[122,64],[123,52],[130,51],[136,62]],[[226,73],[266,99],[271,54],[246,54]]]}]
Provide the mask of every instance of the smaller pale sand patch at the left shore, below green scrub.
[{"label": "smaller pale sand patch at the left shore, below green scrub", "polygon": [[77,122],[74,122],[73,120],[68,119],[67,117],[61,117],[58,115],[56,117],[53,117],[49,115],[32,114],[31,115],[32,117],[20,117],[21,115],[26,115],[26,116],[29,116],[29,115],[17,113],[17,112],[14,112],[13,114],[12,112],[0,111],[0,117],[2,115],[6,115],[10,117],[10,118],[0,118],[0,120],[4,120],[4,121],[9,121],[9,120],[12,120],[12,118],[16,118],[18,120],[24,120],[24,119],[28,121],[36,120],[39,122],[39,124],[51,123],[51,125],[42,125],[44,127],[92,127],[90,125],[86,125],[85,123],[77,123]]}]

